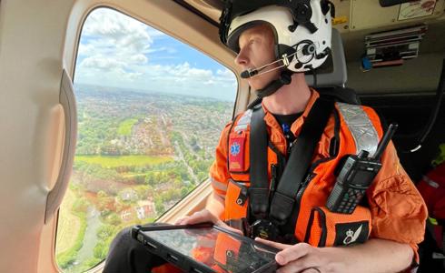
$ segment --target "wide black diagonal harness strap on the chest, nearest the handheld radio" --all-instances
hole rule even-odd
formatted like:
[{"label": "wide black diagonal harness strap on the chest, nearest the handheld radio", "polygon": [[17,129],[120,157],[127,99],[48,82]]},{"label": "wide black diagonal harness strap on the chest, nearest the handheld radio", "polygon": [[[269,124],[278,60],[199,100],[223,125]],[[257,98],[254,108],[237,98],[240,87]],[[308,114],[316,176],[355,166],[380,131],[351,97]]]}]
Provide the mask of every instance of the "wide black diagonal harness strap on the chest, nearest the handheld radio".
[{"label": "wide black diagonal harness strap on the chest, nearest the handheld radio", "polygon": [[315,146],[320,140],[329,116],[331,116],[333,106],[333,100],[318,98],[306,117],[302,131],[292,147],[291,155],[271,203],[270,217],[280,225],[284,224],[292,215],[298,189],[307,174]]}]

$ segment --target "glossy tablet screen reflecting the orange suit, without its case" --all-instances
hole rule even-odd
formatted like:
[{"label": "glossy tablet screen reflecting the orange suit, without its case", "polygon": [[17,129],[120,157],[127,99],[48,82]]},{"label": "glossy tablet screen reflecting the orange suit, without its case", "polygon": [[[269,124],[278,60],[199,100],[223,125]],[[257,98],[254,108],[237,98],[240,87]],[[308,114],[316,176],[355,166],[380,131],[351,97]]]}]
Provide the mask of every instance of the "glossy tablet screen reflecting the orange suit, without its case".
[{"label": "glossy tablet screen reflecting the orange suit, without its case", "polygon": [[277,252],[251,239],[241,239],[213,227],[143,233],[216,272],[253,272],[274,262]]}]

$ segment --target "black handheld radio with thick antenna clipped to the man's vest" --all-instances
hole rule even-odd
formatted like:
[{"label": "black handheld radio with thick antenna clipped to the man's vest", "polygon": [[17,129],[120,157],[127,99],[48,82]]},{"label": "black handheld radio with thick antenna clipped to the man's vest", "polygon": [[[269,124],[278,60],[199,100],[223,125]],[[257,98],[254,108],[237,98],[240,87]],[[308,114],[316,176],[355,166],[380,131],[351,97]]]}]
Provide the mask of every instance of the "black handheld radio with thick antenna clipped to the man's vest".
[{"label": "black handheld radio with thick antenna clipped to the man's vest", "polygon": [[361,150],[359,155],[346,158],[326,207],[331,212],[351,214],[360,203],[365,191],[371,186],[372,180],[381,169],[381,154],[390,143],[397,129],[397,124],[391,124],[381,138],[374,157],[368,157],[369,152]]}]

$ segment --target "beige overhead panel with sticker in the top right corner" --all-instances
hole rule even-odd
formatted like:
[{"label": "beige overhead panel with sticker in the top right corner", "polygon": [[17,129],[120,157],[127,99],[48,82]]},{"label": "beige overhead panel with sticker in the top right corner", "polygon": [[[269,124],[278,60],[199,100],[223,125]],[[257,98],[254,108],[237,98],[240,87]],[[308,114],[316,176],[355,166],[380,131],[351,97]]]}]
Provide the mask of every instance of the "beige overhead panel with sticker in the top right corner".
[{"label": "beige overhead panel with sticker in the top right corner", "polygon": [[440,17],[444,7],[443,0],[420,0],[388,7],[381,7],[379,1],[352,0],[351,30],[414,25]]}]

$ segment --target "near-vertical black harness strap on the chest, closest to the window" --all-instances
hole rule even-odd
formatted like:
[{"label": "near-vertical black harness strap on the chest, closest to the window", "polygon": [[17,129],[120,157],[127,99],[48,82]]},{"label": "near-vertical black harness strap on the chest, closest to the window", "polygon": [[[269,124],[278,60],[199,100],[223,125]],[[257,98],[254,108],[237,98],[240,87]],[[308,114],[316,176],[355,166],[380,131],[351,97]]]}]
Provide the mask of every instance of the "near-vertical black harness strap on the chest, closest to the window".
[{"label": "near-vertical black harness strap on the chest, closest to the window", "polygon": [[252,109],[249,145],[250,177],[249,204],[254,217],[265,217],[269,210],[269,181],[267,177],[267,129],[264,110],[258,104]]}]

